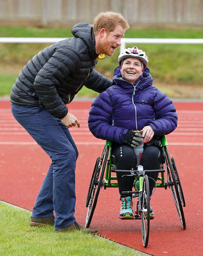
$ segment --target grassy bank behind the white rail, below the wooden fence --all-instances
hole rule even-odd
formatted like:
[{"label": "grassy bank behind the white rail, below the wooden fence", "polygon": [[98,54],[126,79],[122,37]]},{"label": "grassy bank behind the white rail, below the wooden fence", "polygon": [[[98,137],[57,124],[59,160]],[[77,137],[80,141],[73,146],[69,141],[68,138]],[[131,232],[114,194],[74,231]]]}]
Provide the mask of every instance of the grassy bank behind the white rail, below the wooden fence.
[{"label": "grassy bank behind the white rail, below the wooden fence", "polygon": [[[0,37],[70,37],[70,29],[0,27]],[[126,38],[203,38],[202,29],[130,29]],[[40,50],[50,44],[0,44],[0,94],[10,93],[12,84],[23,66]],[[127,45],[130,47],[133,45]],[[203,83],[203,46],[178,44],[136,44],[149,58],[151,75],[159,84],[173,86],[196,86]],[[113,57],[100,60],[96,69],[112,79],[117,66],[119,49]],[[184,90],[184,89],[183,89]],[[79,95],[95,96],[88,90]]]}]

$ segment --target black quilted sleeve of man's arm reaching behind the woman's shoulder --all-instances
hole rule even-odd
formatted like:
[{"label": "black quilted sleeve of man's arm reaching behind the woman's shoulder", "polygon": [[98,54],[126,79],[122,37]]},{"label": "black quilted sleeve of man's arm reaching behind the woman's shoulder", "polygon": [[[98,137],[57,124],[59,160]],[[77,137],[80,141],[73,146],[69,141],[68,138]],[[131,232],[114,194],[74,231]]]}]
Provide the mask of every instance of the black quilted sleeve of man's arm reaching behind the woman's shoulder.
[{"label": "black quilted sleeve of man's arm reaching behind the woman's shoulder", "polygon": [[101,93],[105,91],[108,87],[112,86],[112,83],[113,82],[111,80],[93,69],[89,75],[85,86],[89,89]]}]

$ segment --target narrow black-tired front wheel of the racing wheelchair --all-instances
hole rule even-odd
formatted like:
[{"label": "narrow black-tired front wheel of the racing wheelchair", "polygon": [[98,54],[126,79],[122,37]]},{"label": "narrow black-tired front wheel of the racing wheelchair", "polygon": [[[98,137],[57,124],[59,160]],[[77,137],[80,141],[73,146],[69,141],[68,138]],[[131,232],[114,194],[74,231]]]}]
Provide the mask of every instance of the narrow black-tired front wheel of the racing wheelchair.
[{"label": "narrow black-tired front wheel of the racing wheelchair", "polygon": [[142,241],[144,247],[147,247],[150,233],[150,187],[147,175],[144,175],[140,208],[142,209]]}]

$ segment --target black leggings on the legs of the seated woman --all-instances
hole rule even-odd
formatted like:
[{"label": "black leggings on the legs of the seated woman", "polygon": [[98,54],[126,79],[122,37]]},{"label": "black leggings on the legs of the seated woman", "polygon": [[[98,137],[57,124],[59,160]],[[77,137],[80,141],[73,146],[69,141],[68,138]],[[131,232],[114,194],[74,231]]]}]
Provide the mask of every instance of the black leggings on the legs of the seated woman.
[{"label": "black leggings on the legs of the seated woman", "polygon": [[[112,145],[112,163],[116,165],[116,169],[118,170],[130,170],[131,168],[136,168],[137,158],[136,154],[132,147],[120,144]],[[140,161],[143,169],[145,170],[153,170],[160,169],[161,164],[161,152],[160,150],[153,145],[144,146],[142,158]],[[121,198],[129,196],[128,194],[123,194],[122,191],[132,191],[133,182],[135,180],[134,177],[124,176],[126,173],[116,173],[118,188]],[[157,181],[158,173],[147,173],[149,177],[149,185],[150,185],[150,195],[152,194],[152,190],[154,188],[154,179]],[[150,177],[152,179],[150,179]],[[120,199],[121,200],[121,199]]]}]

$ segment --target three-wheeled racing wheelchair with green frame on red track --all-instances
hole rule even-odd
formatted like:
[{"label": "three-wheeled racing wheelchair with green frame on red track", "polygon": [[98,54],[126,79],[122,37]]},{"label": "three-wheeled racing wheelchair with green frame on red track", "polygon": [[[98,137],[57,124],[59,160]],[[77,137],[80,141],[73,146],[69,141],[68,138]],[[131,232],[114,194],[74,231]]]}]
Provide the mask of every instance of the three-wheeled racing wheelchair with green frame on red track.
[{"label": "three-wheeled racing wheelchair with green frame on red track", "polygon": [[[181,187],[180,179],[178,176],[178,171],[174,158],[169,156],[167,149],[167,140],[165,136],[161,138],[161,153],[164,159],[164,163],[160,166],[159,170],[143,170],[140,165],[137,169],[131,170],[116,170],[115,165],[111,162],[111,142],[106,141],[101,157],[96,159],[93,174],[91,177],[86,207],[88,208],[85,227],[88,228],[96,207],[99,192],[101,188],[118,188],[118,183],[116,176],[112,174],[114,172],[125,172],[126,175],[135,176],[134,190],[125,191],[129,193],[132,198],[137,199],[137,210],[138,215],[134,213],[134,219],[141,218],[142,222],[142,240],[143,246],[147,247],[149,241],[149,230],[150,230],[150,191],[149,191],[149,180],[145,172],[159,172],[161,175],[158,177],[157,182],[155,182],[155,188],[169,188],[173,196],[178,216],[182,228],[186,228],[185,217],[183,212],[183,207],[185,207],[185,199],[183,195],[183,190]],[[106,171],[106,172],[105,172]],[[164,179],[164,172],[167,174],[167,181]],[[153,193],[152,193],[153,194]],[[136,204],[135,204],[136,205]]]}]

